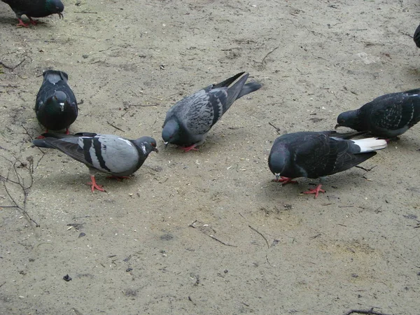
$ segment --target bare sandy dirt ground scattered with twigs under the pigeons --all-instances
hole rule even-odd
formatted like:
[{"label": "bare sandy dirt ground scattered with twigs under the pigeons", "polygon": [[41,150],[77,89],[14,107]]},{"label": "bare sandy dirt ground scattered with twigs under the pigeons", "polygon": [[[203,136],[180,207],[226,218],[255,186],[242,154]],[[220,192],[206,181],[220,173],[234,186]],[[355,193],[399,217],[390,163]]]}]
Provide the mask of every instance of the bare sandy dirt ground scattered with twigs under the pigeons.
[{"label": "bare sandy dirt ground scattered with twigs under the pigeons", "polygon": [[[25,29],[0,2],[0,314],[420,314],[420,126],[316,200],[300,194],[316,180],[282,187],[267,166],[272,125],[331,130],[420,86],[419,1],[64,5]],[[148,135],[160,153],[92,194],[85,165],[31,147],[45,69],[81,103],[71,132]],[[200,152],[165,149],[169,107],[239,71],[264,87]]]}]

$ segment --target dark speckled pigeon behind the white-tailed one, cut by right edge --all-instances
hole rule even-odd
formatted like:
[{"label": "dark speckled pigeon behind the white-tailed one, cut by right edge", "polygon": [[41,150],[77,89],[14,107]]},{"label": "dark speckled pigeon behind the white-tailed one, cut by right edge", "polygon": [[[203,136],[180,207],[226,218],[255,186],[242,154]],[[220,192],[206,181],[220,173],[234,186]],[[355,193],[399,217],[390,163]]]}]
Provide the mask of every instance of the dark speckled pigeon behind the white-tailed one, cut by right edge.
[{"label": "dark speckled pigeon behind the white-tailed one, cut by right edge", "polygon": [[370,132],[374,137],[395,138],[420,121],[420,89],[385,94],[360,109],[340,113],[337,127]]}]

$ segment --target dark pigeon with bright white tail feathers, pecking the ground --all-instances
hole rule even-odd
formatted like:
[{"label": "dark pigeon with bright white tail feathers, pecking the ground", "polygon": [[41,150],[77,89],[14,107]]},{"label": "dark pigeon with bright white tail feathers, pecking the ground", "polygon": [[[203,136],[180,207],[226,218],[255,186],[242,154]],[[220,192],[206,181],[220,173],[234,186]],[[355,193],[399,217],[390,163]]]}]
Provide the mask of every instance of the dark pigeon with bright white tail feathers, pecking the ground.
[{"label": "dark pigeon with bright white tail feathers, pecking the ground", "polygon": [[[376,150],[386,148],[386,141],[377,138],[353,139],[358,132],[339,134],[334,131],[295,132],[278,137],[269,153],[268,166],[276,180],[284,184],[292,179],[309,179],[343,172],[372,158]],[[320,183],[305,194],[325,193]]]}]

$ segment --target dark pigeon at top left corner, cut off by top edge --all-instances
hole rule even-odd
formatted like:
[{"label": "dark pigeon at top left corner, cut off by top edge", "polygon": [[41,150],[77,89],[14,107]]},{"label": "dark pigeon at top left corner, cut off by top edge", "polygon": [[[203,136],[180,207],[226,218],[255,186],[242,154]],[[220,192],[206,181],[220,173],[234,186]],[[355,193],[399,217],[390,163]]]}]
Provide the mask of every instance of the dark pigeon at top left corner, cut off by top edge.
[{"label": "dark pigeon at top left corner, cut off by top edge", "polygon": [[43,18],[51,14],[58,14],[59,18],[63,18],[64,4],[60,0],[1,0],[7,3],[15,12],[16,18],[19,20],[17,26],[29,27],[22,21],[22,15],[29,18],[31,25],[36,25],[36,20],[32,18]]}]

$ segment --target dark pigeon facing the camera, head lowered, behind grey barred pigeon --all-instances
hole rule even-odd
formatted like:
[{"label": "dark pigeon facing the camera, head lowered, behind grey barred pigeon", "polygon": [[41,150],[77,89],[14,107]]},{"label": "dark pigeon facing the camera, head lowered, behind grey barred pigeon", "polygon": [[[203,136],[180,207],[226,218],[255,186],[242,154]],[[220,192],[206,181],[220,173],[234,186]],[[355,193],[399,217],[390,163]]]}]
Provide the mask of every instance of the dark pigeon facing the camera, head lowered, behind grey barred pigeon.
[{"label": "dark pigeon facing the camera, head lowered, behind grey barred pigeon", "polygon": [[35,112],[39,123],[48,130],[66,129],[76,120],[78,107],[76,97],[67,84],[67,73],[47,70],[36,96]]}]

